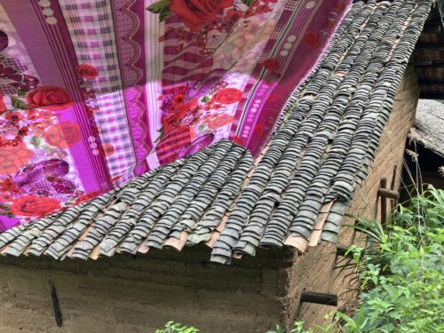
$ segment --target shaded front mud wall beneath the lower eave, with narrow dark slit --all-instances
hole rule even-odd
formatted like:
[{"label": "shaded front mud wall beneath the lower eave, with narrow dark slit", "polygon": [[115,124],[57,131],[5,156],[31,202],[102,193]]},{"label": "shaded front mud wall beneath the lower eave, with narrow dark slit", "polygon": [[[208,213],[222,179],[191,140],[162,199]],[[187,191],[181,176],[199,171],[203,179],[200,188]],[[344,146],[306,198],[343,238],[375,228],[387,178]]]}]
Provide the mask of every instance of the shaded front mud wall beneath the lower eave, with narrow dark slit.
[{"label": "shaded front mud wall beneath the lower eave, with narrow dark slit", "polygon": [[[0,332],[144,332],[170,320],[204,332],[260,332],[281,321],[280,273],[292,251],[233,266],[204,247],[97,261],[0,258]],[[51,283],[63,324],[56,326]]]}]

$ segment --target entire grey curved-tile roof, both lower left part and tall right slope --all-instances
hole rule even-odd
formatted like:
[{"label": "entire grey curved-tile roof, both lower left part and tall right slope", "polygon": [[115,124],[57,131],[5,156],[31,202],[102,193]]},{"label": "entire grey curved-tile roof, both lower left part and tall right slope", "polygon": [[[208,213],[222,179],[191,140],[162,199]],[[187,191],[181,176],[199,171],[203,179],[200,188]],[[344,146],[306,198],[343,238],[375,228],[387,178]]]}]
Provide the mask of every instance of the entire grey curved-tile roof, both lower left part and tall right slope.
[{"label": "entire grey curved-tile roof, both lower left part and tall right slope", "polygon": [[230,263],[260,247],[337,242],[431,0],[357,1],[253,161],[227,140],[91,202],[0,234],[0,253],[98,258],[206,242]]}]

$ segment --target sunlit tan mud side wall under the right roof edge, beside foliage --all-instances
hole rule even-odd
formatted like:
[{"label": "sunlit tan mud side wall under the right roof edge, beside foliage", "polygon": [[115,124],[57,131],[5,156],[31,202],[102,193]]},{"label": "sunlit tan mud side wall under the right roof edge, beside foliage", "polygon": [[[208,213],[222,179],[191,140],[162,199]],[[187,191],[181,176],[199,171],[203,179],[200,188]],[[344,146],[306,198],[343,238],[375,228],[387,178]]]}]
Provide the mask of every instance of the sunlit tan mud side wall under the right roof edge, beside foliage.
[{"label": "sunlit tan mud side wall under the right roof edge, beside foliage", "polygon": [[[389,122],[386,124],[380,141],[373,166],[369,170],[367,179],[356,190],[352,205],[346,210],[346,213],[355,217],[377,218],[380,220],[381,202],[377,199],[377,189],[381,178],[387,178],[388,186],[392,183],[393,170],[396,166],[397,172],[394,178],[394,189],[400,187],[402,173],[402,158],[408,131],[415,121],[416,106],[419,98],[419,86],[417,83],[416,71],[413,66],[408,66],[402,82],[398,87],[395,97],[395,103],[390,115]],[[347,247],[353,243],[353,229],[345,225],[353,225],[353,218],[344,218],[342,221],[341,234],[339,236],[340,245]],[[356,236],[359,241],[359,237]],[[310,264],[320,267],[318,279],[305,281],[307,288],[312,291],[337,294],[339,296],[338,306],[348,307],[346,298],[350,294],[343,294],[350,288],[350,283],[344,279],[345,274],[337,276],[338,270],[333,268],[337,266],[336,246],[329,243],[323,243],[313,248],[308,253],[313,259]],[[323,267],[323,268],[322,268]],[[296,283],[297,278],[301,276],[302,268],[294,266],[292,281]],[[308,287],[309,286],[309,287]],[[326,305],[303,304],[300,307],[297,295],[291,295],[292,308],[296,311],[289,317],[289,322],[295,318],[312,323],[325,323],[323,316],[331,313],[336,308]]]}]

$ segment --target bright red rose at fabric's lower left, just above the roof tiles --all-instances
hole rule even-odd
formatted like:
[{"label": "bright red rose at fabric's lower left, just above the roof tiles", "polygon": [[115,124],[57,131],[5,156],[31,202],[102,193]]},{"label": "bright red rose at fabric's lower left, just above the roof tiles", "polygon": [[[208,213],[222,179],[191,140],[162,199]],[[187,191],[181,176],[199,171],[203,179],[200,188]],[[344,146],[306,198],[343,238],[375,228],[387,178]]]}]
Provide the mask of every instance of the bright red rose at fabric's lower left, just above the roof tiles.
[{"label": "bright red rose at fabric's lower left, just above the roof tiles", "polygon": [[36,195],[25,195],[17,198],[10,207],[12,214],[38,218],[59,209],[60,202],[57,200]]}]

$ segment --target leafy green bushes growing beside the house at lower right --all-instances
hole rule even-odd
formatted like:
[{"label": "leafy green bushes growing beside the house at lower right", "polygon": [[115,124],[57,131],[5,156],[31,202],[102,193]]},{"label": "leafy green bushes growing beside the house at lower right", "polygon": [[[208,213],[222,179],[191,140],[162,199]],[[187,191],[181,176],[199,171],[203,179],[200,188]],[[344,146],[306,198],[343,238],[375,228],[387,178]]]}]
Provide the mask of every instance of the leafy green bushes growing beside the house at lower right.
[{"label": "leafy green bushes growing beside the house at lower right", "polygon": [[[353,317],[336,313],[330,333],[443,332],[444,191],[418,195],[400,205],[390,224],[358,218],[354,226],[366,234],[364,248],[351,246],[341,269],[354,267],[360,282],[360,306]],[[277,327],[266,333],[285,333]],[[311,333],[298,321],[289,332]]]}]

